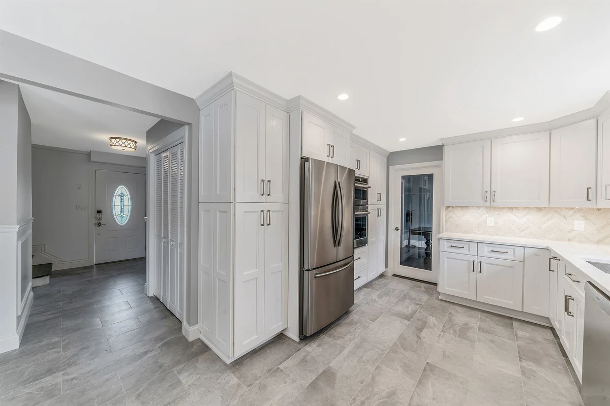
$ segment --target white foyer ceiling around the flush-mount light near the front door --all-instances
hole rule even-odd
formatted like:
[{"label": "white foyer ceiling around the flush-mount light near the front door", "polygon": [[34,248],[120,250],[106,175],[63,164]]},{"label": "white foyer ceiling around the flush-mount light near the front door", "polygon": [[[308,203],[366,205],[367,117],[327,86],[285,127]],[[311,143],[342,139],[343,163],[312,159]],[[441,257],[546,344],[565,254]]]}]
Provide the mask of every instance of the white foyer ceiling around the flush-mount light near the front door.
[{"label": "white foyer ceiling around the flush-mount light near the front door", "polygon": [[[32,120],[32,144],[146,156],[146,130],[158,118],[30,85],[20,88]],[[112,149],[110,137],[135,140],[137,149]]]}]

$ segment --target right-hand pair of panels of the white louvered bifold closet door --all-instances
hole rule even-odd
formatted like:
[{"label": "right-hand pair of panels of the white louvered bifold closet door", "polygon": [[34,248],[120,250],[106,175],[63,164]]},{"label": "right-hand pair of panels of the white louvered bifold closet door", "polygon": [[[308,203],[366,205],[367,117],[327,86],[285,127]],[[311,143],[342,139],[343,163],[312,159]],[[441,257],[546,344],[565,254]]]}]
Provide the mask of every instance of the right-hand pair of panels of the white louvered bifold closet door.
[{"label": "right-hand pair of panels of the white louvered bifold closet door", "polygon": [[170,149],[170,263],[167,290],[167,307],[178,315],[178,222],[179,222],[179,146]]}]

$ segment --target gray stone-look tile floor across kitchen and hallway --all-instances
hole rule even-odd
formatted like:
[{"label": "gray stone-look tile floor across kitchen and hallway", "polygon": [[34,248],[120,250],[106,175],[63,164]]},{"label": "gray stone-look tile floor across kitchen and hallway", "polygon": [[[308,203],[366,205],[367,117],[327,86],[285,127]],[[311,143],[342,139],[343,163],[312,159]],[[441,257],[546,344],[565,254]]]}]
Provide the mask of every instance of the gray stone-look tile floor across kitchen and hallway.
[{"label": "gray stone-look tile floor across kitchen and hallway", "polygon": [[[381,276],[339,321],[226,365],[143,293],[141,260],[35,288],[2,405],[582,405],[553,331]],[[571,374],[572,373],[572,374]]]}]

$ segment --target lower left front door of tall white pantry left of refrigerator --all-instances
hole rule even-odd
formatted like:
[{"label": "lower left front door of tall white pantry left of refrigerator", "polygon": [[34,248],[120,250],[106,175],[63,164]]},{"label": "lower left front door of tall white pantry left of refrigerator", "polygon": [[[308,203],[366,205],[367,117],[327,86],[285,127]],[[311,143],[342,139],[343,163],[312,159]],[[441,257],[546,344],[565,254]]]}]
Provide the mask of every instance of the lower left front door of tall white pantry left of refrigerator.
[{"label": "lower left front door of tall white pantry left of refrigerator", "polygon": [[235,204],[235,355],[264,340],[265,204]]}]

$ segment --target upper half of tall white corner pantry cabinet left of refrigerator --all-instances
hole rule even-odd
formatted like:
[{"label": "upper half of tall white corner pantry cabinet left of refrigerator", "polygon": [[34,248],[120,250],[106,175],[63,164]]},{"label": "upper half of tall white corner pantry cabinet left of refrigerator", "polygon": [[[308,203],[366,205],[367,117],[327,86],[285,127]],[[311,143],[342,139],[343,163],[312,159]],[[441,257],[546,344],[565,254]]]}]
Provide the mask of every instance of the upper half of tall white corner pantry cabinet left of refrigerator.
[{"label": "upper half of tall white corner pantry cabinet left of refrigerator", "polygon": [[232,90],[200,121],[200,201],[288,202],[288,113]]}]

